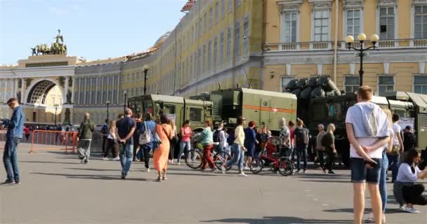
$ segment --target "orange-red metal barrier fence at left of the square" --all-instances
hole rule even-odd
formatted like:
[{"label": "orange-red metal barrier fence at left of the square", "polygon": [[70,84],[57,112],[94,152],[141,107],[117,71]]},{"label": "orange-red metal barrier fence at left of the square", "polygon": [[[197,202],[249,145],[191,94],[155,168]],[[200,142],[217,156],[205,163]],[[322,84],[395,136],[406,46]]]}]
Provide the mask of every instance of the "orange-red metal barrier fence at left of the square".
[{"label": "orange-red metal barrier fence at left of the square", "polygon": [[65,150],[75,152],[77,132],[34,130],[31,134],[31,150]]}]

